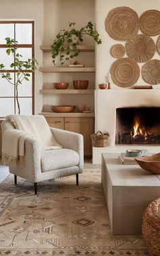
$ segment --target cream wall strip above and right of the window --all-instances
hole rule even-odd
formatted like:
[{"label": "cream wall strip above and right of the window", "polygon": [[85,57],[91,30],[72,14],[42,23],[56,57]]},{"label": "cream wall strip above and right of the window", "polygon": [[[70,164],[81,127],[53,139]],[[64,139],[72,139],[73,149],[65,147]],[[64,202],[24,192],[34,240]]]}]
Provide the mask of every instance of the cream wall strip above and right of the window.
[{"label": "cream wall strip above and right of the window", "polygon": [[[43,0],[0,0],[0,20],[35,20],[35,59],[39,67],[42,66],[40,46],[43,42]],[[43,98],[39,95],[43,75],[38,69],[35,71],[35,114],[41,111],[43,104]]]}]

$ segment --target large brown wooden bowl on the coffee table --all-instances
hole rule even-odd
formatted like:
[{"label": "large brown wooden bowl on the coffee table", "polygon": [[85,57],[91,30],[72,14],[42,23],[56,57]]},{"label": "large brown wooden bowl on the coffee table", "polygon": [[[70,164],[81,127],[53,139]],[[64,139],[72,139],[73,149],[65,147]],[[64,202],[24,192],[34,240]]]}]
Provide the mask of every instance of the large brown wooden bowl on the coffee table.
[{"label": "large brown wooden bowl on the coffee table", "polygon": [[160,174],[160,153],[151,155],[151,157],[136,157],[135,160],[142,169],[153,172],[153,174]]}]

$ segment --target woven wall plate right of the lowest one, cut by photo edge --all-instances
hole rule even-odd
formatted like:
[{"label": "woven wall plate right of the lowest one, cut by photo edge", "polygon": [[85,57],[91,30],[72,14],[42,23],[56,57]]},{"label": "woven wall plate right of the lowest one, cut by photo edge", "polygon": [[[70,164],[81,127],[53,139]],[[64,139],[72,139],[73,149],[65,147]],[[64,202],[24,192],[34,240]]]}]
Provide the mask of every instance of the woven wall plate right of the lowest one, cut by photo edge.
[{"label": "woven wall plate right of the lowest one, cut by photo edge", "polygon": [[152,59],[142,66],[142,78],[148,84],[160,84],[160,61]]}]

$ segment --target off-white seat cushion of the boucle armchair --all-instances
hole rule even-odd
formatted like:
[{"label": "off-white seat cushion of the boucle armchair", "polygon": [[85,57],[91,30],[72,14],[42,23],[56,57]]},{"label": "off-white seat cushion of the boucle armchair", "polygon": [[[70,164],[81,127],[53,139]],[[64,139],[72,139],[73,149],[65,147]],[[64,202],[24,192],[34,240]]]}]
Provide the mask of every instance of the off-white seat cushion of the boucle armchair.
[{"label": "off-white seat cushion of the boucle armchair", "polygon": [[79,163],[79,154],[75,150],[62,148],[41,150],[41,172],[73,167]]}]

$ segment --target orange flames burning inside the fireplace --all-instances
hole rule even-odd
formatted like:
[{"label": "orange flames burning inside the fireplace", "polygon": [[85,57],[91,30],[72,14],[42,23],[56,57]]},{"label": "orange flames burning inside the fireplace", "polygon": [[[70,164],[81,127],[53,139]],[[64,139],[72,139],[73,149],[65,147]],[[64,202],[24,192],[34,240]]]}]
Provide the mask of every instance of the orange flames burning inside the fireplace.
[{"label": "orange flames burning inside the fireplace", "polygon": [[142,135],[144,136],[144,140],[146,140],[146,136],[147,136],[146,130],[144,125],[142,125],[142,121],[140,120],[139,114],[136,114],[136,116],[134,117],[134,125],[130,134],[134,139],[136,138],[136,136]]}]

